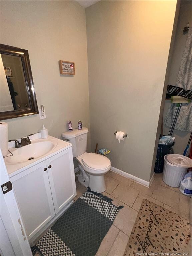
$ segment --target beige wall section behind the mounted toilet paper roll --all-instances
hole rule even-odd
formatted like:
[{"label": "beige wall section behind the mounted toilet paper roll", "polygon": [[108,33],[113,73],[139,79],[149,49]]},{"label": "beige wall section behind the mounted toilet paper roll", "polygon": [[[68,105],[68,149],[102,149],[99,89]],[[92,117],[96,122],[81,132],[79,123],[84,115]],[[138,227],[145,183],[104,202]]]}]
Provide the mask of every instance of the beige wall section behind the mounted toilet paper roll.
[{"label": "beige wall section behind the mounted toilet paper roll", "polygon": [[[101,1],[86,8],[92,150],[96,143],[107,147],[113,167],[146,181],[175,10],[176,1]],[[118,143],[115,130],[129,139]]]}]

